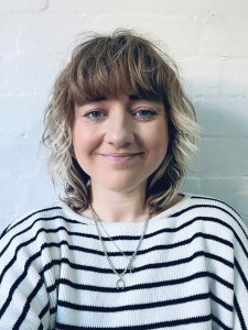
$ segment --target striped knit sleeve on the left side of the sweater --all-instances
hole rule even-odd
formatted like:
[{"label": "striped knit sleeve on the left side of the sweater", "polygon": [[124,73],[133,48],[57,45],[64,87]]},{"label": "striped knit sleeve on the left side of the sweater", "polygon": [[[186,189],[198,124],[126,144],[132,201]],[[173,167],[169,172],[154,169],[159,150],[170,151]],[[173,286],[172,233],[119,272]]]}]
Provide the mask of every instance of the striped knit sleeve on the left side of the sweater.
[{"label": "striped knit sleeve on the left side of the sweater", "polygon": [[0,239],[0,329],[51,329],[36,233],[23,226]]}]

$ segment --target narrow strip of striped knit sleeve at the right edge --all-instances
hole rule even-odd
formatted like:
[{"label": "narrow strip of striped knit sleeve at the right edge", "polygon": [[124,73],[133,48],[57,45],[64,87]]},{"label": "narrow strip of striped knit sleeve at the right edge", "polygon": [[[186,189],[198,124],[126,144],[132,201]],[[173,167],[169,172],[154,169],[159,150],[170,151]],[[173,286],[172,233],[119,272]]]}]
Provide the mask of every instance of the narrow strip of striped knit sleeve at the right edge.
[{"label": "narrow strip of striped knit sleeve at the right edge", "polygon": [[234,330],[248,330],[248,230],[237,218],[234,231]]}]

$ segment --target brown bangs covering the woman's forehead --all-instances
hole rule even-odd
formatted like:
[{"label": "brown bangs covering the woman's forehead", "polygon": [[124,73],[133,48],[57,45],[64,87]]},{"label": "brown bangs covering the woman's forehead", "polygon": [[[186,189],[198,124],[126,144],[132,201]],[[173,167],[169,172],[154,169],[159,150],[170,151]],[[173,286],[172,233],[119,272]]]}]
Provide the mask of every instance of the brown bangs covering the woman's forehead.
[{"label": "brown bangs covering the woman's forehead", "polygon": [[140,98],[164,101],[161,59],[140,37],[118,34],[97,37],[78,46],[71,63],[69,96],[84,105],[134,92]]}]

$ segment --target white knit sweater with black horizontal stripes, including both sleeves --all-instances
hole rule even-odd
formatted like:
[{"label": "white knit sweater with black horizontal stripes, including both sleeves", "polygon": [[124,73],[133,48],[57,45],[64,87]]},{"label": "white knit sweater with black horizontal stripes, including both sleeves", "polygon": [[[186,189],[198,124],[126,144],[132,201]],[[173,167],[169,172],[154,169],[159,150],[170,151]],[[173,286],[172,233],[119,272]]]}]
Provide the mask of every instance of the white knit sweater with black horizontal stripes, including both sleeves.
[{"label": "white knit sweater with black horizontal stripes, including both sleeves", "polygon": [[[143,223],[104,227],[121,273]],[[0,240],[0,329],[248,329],[248,232],[218,200],[186,195],[150,219],[123,289],[117,279],[91,219],[36,211]]]}]

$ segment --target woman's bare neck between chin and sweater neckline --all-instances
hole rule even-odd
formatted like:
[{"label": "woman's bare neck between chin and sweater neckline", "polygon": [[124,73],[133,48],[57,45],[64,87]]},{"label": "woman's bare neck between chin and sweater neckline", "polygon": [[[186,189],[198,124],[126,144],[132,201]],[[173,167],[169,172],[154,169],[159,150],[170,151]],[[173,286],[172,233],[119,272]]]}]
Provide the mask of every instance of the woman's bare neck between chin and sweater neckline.
[{"label": "woman's bare neck between chin and sweater neckline", "polygon": [[144,206],[145,187],[141,191],[121,194],[116,191],[103,191],[91,186],[91,206],[103,221],[109,222],[140,222],[148,217]]}]

